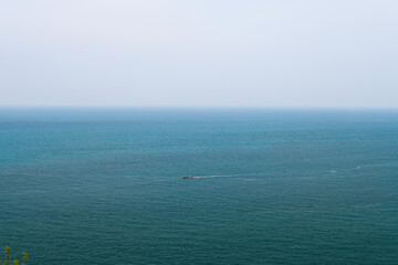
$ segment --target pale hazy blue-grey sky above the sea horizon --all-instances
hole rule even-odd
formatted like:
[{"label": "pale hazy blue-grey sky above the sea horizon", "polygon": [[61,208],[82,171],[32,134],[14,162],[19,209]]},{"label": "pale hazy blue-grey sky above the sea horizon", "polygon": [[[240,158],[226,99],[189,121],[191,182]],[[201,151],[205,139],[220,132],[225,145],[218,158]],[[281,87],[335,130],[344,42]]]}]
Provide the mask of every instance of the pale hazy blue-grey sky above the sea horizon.
[{"label": "pale hazy blue-grey sky above the sea horizon", "polygon": [[21,105],[398,107],[398,1],[1,1]]}]

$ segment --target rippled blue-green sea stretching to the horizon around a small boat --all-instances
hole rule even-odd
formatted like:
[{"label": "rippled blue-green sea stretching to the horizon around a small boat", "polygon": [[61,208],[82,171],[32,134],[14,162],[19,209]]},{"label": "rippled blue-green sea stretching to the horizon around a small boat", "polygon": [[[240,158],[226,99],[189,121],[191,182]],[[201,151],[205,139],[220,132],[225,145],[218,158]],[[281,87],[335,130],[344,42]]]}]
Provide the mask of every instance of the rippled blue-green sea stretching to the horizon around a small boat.
[{"label": "rippled blue-green sea stretching to the horizon around a small boat", "polygon": [[36,265],[398,264],[398,112],[2,108],[0,204]]}]

